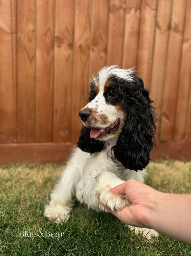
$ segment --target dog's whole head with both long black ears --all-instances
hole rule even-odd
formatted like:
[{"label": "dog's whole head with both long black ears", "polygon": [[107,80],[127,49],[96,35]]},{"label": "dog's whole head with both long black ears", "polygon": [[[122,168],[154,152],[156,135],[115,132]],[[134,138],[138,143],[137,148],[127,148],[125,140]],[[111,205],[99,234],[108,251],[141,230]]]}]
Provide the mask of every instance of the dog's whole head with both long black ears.
[{"label": "dog's whole head with both long black ears", "polygon": [[90,86],[89,103],[81,109],[78,147],[100,152],[110,138],[118,138],[114,156],[130,170],[142,170],[155,144],[155,114],[149,92],[132,69],[102,68]]}]

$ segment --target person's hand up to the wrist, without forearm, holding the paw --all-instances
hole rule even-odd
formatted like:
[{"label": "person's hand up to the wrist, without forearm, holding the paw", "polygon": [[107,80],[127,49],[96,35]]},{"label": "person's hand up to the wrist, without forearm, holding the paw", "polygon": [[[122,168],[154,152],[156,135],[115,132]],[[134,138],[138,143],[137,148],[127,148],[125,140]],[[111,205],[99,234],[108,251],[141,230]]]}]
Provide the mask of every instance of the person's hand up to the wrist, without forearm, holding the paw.
[{"label": "person's hand up to the wrist, without forearm, holding the paw", "polygon": [[161,192],[133,179],[110,188],[110,192],[126,194],[132,202],[122,210],[108,209],[112,214],[129,225],[150,228],[149,220],[152,211],[157,208],[156,201],[159,200]]}]

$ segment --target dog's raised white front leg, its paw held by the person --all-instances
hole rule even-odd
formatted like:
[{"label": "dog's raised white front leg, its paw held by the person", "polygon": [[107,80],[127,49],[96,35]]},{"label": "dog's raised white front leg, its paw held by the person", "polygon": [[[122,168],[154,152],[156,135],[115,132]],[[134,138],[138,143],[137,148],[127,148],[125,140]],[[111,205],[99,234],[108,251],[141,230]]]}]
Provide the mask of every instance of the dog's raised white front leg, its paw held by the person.
[{"label": "dog's raised white front leg, its paw held by the person", "polygon": [[109,189],[123,182],[112,172],[93,170],[83,175],[76,197],[96,211],[108,212],[108,208],[121,210],[130,204],[128,198],[123,194],[113,194]]}]

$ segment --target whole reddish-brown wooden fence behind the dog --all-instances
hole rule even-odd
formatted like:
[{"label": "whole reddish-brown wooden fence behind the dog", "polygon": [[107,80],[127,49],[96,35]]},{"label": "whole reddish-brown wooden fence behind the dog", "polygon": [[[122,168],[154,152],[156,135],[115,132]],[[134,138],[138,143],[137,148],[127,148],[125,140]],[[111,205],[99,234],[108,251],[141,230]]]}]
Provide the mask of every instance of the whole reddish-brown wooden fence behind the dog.
[{"label": "whole reddish-brown wooden fence behind the dog", "polygon": [[191,158],[191,0],[1,0],[0,163],[66,160],[89,81],[134,67],[158,116],[153,159]]}]

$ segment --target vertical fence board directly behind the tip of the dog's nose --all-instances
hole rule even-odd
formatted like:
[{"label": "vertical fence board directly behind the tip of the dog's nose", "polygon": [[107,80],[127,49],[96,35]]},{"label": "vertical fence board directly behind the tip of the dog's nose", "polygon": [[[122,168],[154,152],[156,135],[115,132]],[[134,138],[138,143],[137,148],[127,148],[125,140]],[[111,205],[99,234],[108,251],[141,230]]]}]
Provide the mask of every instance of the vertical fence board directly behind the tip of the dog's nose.
[{"label": "vertical fence board directly behind the tip of the dog's nose", "polygon": [[77,142],[81,120],[80,109],[87,103],[89,91],[89,57],[91,30],[91,1],[75,1],[75,45],[73,59],[73,99],[72,99],[72,142]]}]

